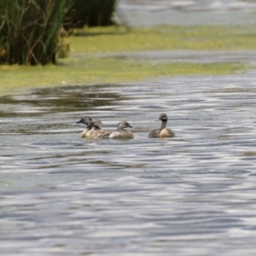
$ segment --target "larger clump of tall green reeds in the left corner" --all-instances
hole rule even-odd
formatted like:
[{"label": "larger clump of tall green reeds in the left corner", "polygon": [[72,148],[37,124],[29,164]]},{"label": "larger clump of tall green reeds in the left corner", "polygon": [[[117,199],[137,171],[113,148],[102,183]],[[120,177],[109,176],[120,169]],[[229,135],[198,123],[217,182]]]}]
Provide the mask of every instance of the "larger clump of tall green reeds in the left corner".
[{"label": "larger clump of tall green reeds in the left corner", "polygon": [[0,0],[0,65],[56,62],[70,0]]}]

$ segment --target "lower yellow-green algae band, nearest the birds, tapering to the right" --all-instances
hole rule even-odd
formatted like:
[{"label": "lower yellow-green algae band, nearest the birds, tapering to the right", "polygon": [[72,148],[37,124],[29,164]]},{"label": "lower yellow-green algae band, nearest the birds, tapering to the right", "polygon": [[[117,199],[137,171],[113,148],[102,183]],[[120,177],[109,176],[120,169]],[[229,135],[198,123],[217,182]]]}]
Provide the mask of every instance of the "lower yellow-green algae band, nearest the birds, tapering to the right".
[{"label": "lower yellow-green algae band, nearest the birds, tapering to the right", "polygon": [[177,75],[224,75],[246,72],[241,63],[172,62],[152,64],[113,58],[67,59],[45,67],[0,67],[0,94],[20,93],[23,88],[65,84],[121,83]]}]

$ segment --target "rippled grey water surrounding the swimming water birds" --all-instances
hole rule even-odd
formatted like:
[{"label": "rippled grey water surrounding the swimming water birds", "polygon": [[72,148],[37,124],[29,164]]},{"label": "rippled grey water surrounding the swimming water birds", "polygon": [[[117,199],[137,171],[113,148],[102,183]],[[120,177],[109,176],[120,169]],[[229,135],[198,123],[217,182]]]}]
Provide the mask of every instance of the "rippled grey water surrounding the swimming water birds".
[{"label": "rippled grey water surrounding the swimming water birds", "polygon": [[[1,255],[255,255],[254,78],[2,97]],[[160,113],[176,137],[148,138]],[[80,139],[84,115],[135,138]]]}]

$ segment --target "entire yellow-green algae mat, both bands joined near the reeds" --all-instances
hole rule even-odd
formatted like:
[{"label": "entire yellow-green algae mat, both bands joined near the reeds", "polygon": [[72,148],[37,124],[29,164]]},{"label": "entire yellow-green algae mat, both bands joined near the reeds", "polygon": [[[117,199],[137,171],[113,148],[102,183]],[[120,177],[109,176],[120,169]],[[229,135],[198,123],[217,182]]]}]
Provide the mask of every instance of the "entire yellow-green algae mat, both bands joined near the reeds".
[{"label": "entire yellow-green algae mat, both bands joined near the reeds", "polygon": [[[0,66],[0,95],[27,88],[75,84],[131,82],[177,75],[225,75],[246,73],[252,65],[243,62],[193,63],[137,61],[114,57],[114,53],[154,50],[254,50],[253,26],[123,26],[84,27],[63,38],[70,45],[67,59],[57,65]],[[108,57],[106,56],[108,55]]]}]

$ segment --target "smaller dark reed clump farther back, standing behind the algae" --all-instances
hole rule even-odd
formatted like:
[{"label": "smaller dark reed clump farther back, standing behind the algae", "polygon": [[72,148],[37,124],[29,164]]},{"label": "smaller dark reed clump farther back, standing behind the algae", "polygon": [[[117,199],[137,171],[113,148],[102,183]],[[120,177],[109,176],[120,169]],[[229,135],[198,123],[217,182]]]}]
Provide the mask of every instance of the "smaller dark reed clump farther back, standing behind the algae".
[{"label": "smaller dark reed clump farther back, standing behind the algae", "polygon": [[81,28],[83,26],[113,25],[113,12],[117,0],[72,0],[72,8],[66,15],[66,26]]}]

